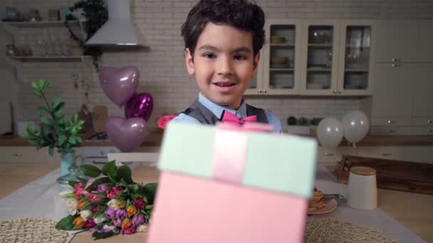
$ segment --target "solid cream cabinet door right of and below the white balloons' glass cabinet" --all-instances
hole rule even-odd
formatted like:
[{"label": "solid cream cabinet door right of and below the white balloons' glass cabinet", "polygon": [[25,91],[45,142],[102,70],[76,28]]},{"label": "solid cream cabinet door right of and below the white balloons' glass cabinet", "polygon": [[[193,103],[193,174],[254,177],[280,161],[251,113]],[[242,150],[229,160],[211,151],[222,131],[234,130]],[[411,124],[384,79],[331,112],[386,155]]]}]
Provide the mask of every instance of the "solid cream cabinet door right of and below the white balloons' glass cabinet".
[{"label": "solid cream cabinet door right of and below the white balloons' glass cabinet", "polygon": [[413,64],[377,63],[372,117],[410,117],[414,93]]}]

